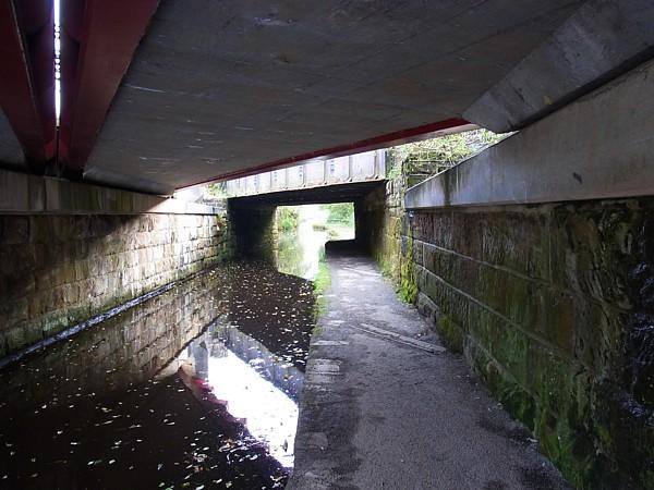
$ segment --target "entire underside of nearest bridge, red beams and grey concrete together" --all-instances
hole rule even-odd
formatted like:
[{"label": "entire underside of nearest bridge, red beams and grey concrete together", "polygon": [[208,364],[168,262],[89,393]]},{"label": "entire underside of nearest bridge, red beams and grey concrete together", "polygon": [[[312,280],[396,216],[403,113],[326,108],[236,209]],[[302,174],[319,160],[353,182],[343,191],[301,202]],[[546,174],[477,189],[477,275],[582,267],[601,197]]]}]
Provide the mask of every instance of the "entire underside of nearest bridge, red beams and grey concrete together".
[{"label": "entire underside of nearest bridge, red beams and grey concrete together", "polygon": [[155,194],[522,127],[650,57],[654,16],[644,0],[63,0],[56,134],[46,3],[8,2],[0,166]]}]

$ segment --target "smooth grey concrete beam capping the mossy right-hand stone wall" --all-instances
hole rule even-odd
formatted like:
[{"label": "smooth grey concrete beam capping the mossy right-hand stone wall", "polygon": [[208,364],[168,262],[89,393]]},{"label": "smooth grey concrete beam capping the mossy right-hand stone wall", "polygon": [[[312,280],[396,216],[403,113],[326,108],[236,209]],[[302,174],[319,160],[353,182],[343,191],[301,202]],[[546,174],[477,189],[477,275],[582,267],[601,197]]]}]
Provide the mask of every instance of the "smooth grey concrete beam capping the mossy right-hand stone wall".
[{"label": "smooth grey concrete beam capping the mossy right-hand stone wall", "polygon": [[410,188],[407,209],[654,195],[654,61]]}]

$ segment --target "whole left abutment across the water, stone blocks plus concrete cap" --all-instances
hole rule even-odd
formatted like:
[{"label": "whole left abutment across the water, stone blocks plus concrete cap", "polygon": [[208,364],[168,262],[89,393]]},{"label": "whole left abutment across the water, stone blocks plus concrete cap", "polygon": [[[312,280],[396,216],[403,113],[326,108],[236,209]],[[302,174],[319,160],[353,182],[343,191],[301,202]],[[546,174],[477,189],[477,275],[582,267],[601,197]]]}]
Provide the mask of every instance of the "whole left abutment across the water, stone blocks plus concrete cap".
[{"label": "whole left abutment across the water, stone blocks plus concrete cap", "polygon": [[3,171],[0,357],[232,256],[220,209]]}]

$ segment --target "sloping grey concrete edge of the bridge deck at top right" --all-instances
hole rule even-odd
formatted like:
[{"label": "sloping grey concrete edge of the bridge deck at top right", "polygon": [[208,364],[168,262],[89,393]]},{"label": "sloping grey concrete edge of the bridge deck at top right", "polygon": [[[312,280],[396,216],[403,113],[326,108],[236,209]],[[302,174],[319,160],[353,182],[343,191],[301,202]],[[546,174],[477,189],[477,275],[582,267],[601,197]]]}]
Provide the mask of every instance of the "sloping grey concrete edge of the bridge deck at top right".
[{"label": "sloping grey concrete edge of the bridge deck at top right", "polygon": [[463,118],[495,133],[525,127],[654,56],[651,0],[589,0]]}]

